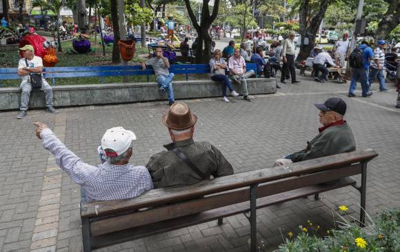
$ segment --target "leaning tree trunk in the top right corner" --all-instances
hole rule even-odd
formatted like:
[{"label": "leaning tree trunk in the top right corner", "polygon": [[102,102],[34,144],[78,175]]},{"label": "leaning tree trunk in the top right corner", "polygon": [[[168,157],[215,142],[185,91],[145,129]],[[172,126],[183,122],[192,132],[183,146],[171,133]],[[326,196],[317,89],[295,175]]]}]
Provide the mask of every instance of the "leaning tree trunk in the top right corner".
[{"label": "leaning tree trunk in the top right corner", "polygon": [[388,11],[379,21],[379,29],[375,32],[374,39],[385,39],[400,23],[400,0],[392,0],[389,3]]}]

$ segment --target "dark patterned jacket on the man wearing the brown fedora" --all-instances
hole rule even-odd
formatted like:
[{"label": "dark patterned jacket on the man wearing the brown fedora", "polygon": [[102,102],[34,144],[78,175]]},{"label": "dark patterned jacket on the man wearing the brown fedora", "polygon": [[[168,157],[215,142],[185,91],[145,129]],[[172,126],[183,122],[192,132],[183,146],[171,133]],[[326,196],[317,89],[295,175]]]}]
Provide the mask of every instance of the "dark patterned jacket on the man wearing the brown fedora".
[{"label": "dark patterned jacket on the man wearing the brown fedora", "polygon": [[199,168],[210,177],[233,174],[233,168],[222,153],[208,142],[194,142],[193,139],[164,145],[168,151],[152,155],[146,165],[152,177],[154,188],[168,186],[189,186],[203,180],[192,171],[175,153],[170,151],[176,146]]}]

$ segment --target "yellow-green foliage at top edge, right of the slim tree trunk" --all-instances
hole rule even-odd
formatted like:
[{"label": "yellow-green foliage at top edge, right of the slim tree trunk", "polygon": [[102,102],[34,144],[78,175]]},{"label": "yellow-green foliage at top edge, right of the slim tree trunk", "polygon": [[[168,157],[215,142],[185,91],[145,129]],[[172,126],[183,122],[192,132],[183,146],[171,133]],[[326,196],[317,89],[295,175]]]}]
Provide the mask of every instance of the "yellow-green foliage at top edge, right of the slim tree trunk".
[{"label": "yellow-green foliage at top edge, right of the slim tree trunk", "polygon": [[150,23],[153,19],[153,13],[150,8],[141,8],[139,1],[130,0],[125,3],[126,19],[134,26],[142,23]]}]

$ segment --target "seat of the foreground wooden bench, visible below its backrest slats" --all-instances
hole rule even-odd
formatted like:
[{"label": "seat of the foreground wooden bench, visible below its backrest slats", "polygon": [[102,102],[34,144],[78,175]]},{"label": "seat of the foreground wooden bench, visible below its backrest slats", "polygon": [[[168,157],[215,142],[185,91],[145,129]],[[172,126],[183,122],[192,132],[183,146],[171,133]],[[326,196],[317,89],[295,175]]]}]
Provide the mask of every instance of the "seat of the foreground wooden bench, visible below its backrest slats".
[{"label": "seat of the foreground wooden bench, visible below its backrest slats", "polygon": [[[263,197],[257,200],[257,209],[261,209],[266,206],[272,206],[274,204],[288,202],[290,200],[296,200],[298,198],[308,195],[314,195],[316,193],[323,193],[335,188],[352,186],[355,184],[356,182],[351,178],[344,178],[336,184],[332,185],[308,186],[294,191],[288,191],[286,193],[279,193],[277,195]],[[246,213],[249,210],[249,202],[243,202],[240,204],[226,206],[220,209],[213,209],[194,215],[186,215],[184,217],[178,217],[172,220],[148,224],[146,226],[141,226],[135,229],[127,229],[119,232],[109,233],[107,235],[99,235],[92,237],[92,249],[101,249],[112,244],[128,242],[130,240],[143,238],[148,235],[155,235],[157,233],[165,233],[176,229],[182,229],[187,226],[193,226],[204,222],[210,222],[212,220],[217,220],[220,217],[228,217],[232,215],[237,215],[239,213]]]}]

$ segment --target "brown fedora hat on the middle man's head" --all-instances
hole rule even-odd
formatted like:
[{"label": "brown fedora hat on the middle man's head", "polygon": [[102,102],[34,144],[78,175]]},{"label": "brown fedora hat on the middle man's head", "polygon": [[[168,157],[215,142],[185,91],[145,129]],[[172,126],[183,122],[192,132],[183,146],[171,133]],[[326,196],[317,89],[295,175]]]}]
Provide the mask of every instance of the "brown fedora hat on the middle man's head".
[{"label": "brown fedora hat on the middle man's head", "polygon": [[197,116],[190,113],[188,104],[175,102],[170,106],[168,114],[163,115],[163,124],[173,130],[186,130],[197,122]]}]

